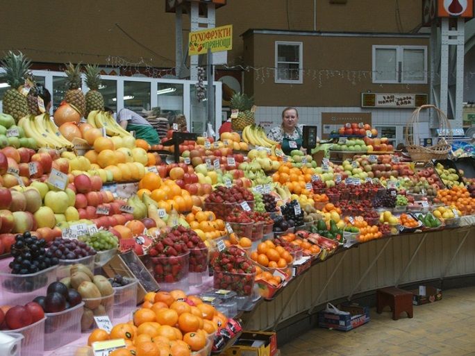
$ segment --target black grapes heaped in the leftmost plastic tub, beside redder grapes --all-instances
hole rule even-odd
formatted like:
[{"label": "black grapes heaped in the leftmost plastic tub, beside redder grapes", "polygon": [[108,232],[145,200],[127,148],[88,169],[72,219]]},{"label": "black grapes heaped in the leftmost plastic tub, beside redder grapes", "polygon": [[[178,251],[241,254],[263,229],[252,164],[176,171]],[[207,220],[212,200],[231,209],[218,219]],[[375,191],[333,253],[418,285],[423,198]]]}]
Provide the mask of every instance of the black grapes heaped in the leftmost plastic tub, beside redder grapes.
[{"label": "black grapes heaped in the leftmost plastic tub, beside redder grapes", "polygon": [[58,264],[58,258],[48,255],[46,244],[44,239],[31,236],[29,231],[15,236],[11,251],[13,261],[10,262],[12,274],[37,273]]}]

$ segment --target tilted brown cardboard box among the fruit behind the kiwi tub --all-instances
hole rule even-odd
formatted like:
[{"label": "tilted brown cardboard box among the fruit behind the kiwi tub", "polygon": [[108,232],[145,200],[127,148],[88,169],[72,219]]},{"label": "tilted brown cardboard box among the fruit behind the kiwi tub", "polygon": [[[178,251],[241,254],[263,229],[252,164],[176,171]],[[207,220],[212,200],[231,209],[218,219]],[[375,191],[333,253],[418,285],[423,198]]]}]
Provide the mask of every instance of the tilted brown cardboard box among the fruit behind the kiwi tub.
[{"label": "tilted brown cardboard box among the fruit behind the kiwi tub", "polygon": [[102,269],[110,278],[113,278],[116,274],[129,278],[137,278],[137,303],[142,303],[145,294],[149,291],[158,291],[160,289],[157,281],[133,251],[115,255],[109,262],[102,266]]}]

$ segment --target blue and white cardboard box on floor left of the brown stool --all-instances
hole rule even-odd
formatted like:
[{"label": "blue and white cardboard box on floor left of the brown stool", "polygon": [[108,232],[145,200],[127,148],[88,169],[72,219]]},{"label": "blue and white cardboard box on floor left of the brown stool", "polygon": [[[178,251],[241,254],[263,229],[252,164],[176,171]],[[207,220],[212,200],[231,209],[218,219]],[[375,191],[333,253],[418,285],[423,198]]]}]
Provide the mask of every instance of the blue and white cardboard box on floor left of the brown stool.
[{"label": "blue and white cardboard box on floor left of the brown stool", "polygon": [[318,313],[318,326],[321,328],[349,331],[369,321],[369,307],[357,304],[339,305],[340,310],[350,314],[334,314],[331,312]]}]

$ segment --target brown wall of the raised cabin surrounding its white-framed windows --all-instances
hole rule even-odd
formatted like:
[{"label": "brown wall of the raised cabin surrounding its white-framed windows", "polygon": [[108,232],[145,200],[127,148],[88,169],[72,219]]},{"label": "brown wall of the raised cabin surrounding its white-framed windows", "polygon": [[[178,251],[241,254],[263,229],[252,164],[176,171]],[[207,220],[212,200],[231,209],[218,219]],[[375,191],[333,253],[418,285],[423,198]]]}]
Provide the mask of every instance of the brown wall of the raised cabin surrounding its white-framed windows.
[{"label": "brown wall of the raised cabin surrounding its white-framed windows", "polygon": [[[276,41],[303,42],[303,83],[274,83],[273,69],[260,69],[244,74],[246,92],[256,97],[259,106],[360,106],[361,92],[427,93],[428,85],[374,84],[363,74],[347,71],[372,71],[372,45],[425,45],[428,38],[402,37],[324,37],[304,35],[254,34],[244,37],[249,60],[256,68],[273,68]],[[246,56],[247,58],[247,56]],[[327,78],[319,71],[330,70]],[[344,71],[338,76],[336,71]],[[264,78],[263,78],[264,74]],[[353,80],[354,79],[354,80]],[[269,94],[272,93],[272,94]]]}]

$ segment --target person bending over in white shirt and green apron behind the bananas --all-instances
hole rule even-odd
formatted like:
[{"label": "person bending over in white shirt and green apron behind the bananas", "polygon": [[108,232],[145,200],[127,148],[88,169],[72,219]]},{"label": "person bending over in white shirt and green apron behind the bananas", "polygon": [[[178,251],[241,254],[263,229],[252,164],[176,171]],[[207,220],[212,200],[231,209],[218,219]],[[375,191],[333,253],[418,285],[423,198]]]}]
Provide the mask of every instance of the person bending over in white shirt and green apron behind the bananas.
[{"label": "person bending over in white shirt and green apron behind the bananas", "polygon": [[[113,113],[113,110],[110,108],[104,108],[104,110]],[[144,139],[149,142],[150,145],[160,143],[157,131],[151,126],[147,119],[144,119],[136,112],[123,108],[117,112],[116,120],[119,125],[128,132],[134,131],[135,138]]]}]

